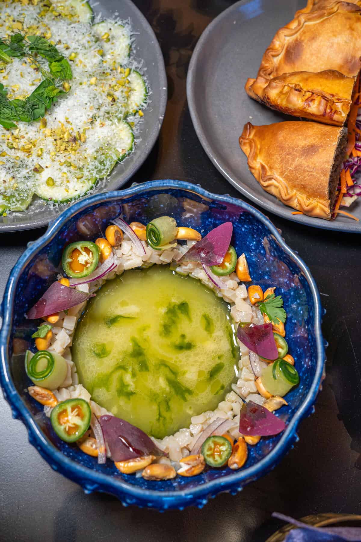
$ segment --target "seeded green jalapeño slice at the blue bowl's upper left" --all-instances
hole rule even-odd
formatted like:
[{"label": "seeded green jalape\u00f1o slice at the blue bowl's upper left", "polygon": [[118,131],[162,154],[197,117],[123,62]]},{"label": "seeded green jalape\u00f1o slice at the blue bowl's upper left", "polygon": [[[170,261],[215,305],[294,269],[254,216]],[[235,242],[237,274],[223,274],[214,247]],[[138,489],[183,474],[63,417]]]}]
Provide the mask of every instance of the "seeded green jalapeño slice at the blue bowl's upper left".
[{"label": "seeded green jalape\u00f1o slice at the blue bowl's upper left", "polygon": [[76,241],[65,248],[62,257],[64,272],[71,278],[90,275],[99,262],[99,247],[91,241]]}]

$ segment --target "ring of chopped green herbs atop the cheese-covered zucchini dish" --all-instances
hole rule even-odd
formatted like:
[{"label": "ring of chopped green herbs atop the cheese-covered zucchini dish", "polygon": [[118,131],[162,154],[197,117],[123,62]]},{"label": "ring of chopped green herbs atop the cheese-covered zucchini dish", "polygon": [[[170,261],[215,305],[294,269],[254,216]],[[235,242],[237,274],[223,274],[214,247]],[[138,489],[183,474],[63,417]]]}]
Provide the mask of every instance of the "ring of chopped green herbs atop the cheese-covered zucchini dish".
[{"label": "ring of chopped green herbs atop the cheese-covered zucchini dish", "polygon": [[[62,86],[65,80],[73,78],[70,64],[48,40],[41,36],[25,37],[20,32],[12,34],[10,39],[0,38],[0,60],[11,62],[11,57],[25,56],[35,64],[43,81],[23,100],[9,100],[0,83],[0,124],[4,128],[16,127],[18,121],[32,122],[44,117],[58,96],[67,94],[70,89],[69,85],[67,90]],[[41,59],[48,61],[49,70],[45,69]]]}]

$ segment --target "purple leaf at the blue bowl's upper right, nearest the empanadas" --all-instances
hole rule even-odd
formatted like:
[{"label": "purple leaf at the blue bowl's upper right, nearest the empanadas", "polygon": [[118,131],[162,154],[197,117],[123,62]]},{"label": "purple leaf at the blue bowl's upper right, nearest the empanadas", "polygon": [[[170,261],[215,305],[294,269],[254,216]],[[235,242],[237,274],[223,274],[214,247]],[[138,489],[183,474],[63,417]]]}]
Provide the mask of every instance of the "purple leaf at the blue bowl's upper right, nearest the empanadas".
[{"label": "purple leaf at the blue bowl's upper right, nearest the empanadas", "polygon": [[218,266],[224,260],[233,233],[232,222],[225,222],[209,231],[198,243],[195,243],[180,262],[200,262],[206,266]]}]

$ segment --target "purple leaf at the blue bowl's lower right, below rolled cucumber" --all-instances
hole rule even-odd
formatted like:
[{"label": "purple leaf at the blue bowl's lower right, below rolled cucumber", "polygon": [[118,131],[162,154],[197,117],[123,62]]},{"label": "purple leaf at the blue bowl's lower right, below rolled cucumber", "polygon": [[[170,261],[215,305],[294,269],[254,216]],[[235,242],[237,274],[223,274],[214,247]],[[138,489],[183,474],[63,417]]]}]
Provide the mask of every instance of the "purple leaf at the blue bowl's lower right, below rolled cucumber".
[{"label": "purple leaf at the blue bowl's lower right, below rolled cucumber", "polygon": [[248,401],[239,416],[239,432],[249,436],[278,435],[286,427],[283,420],[272,414],[265,406]]}]

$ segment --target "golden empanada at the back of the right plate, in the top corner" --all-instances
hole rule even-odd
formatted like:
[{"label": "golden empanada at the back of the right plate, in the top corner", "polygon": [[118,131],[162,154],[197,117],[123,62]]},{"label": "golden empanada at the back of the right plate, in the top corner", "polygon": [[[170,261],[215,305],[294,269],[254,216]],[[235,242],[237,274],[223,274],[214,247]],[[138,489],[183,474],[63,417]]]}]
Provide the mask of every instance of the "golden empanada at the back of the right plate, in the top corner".
[{"label": "golden empanada at the back of the right plate, in the top corner", "polygon": [[[302,10],[301,10],[302,11]],[[337,70],[356,77],[361,68],[361,9],[333,2],[298,12],[280,28],[266,50],[258,72],[273,79],[284,73]]]}]

